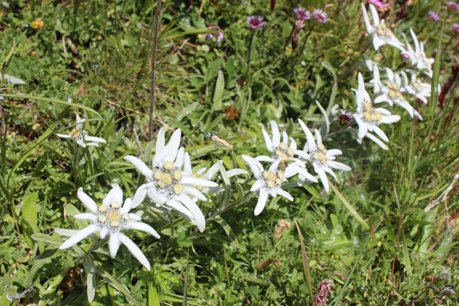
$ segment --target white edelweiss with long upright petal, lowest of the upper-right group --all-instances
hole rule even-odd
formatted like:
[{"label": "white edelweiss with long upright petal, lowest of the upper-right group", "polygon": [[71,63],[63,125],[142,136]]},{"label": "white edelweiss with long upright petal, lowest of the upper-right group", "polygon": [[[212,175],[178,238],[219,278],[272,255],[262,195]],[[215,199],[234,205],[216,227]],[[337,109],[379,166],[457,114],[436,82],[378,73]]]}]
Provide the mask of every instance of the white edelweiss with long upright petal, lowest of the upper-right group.
[{"label": "white edelweiss with long upright petal, lowest of the upper-right group", "polygon": [[384,143],[377,141],[374,135],[369,132],[374,132],[384,141],[389,141],[386,134],[379,129],[378,125],[381,123],[394,123],[400,120],[399,115],[391,115],[386,109],[373,108],[371,103],[370,95],[365,90],[365,83],[362,77],[362,73],[359,72],[359,87],[355,91],[355,103],[357,104],[357,112],[352,114],[357,124],[359,124],[358,137],[360,139],[368,137],[375,141],[379,146],[384,149],[389,149]]}]

